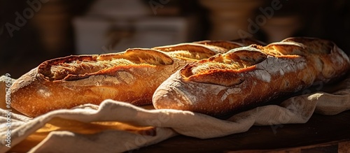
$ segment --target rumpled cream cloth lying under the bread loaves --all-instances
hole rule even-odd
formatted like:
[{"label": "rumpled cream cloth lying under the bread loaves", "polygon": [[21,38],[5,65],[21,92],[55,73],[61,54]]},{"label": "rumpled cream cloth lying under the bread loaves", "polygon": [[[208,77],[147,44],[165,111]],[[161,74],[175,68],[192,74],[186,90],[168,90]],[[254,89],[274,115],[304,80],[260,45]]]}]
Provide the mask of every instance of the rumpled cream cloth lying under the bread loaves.
[{"label": "rumpled cream cloth lying under the bread loaves", "polygon": [[[1,80],[0,92],[4,93]],[[10,147],[4,141],[8,110],[1,105],[0,152],[125,152],[178,134],[216,138],[248,131],[254,125],[273,128],[276,124],[302,124],[314,112],[335,115],[350,110],[350,79],[336,88],[332,94],[303,94],[281,105],[254,108],[227,120],[190,111],[146,110],[113,100],[55,110],[34,119],[12,113]],[[0,103],[5,103],[3,99]]]}]

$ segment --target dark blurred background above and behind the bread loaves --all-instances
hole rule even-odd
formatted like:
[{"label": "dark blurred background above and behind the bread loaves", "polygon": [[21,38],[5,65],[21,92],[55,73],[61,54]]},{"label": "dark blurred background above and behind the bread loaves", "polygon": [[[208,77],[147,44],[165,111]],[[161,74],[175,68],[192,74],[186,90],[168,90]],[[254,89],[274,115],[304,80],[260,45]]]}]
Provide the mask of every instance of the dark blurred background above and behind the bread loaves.
[{"label": "dark blurred background above and behind the bread loaves", "polygon": [[0,0],[0,75],[70,54],[253,37],[325,38],[350,53],[347,0]]}]

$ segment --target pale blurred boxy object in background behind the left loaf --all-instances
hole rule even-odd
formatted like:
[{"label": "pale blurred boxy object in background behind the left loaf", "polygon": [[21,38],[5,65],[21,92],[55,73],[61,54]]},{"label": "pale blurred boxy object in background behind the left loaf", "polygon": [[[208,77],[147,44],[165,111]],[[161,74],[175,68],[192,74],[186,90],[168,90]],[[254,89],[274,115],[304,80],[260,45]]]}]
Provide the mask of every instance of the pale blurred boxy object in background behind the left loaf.
[{"label": "pale blurred boxy object in background behind the left loaf", "polygon": [[154,15],[148,3],[138,0],[97,1],[86,15],[73,20],[77,54],[123,52],[127,48],[192,41],[195,24],[195,17]]}]

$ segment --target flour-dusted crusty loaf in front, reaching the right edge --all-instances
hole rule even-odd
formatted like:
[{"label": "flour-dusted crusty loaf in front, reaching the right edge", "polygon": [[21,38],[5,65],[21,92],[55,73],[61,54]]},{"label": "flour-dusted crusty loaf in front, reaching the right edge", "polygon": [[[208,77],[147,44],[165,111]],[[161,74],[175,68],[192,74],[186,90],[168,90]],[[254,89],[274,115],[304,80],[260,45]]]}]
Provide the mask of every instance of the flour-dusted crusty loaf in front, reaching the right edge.
[{"label": "flour-dusted crusty loaf in front, reaching the right edge", "polygon": [[153,105],[225,115],[329,82],[349,66],[335,43],[317,38],[250,45],[184,66],[158,87]]}]

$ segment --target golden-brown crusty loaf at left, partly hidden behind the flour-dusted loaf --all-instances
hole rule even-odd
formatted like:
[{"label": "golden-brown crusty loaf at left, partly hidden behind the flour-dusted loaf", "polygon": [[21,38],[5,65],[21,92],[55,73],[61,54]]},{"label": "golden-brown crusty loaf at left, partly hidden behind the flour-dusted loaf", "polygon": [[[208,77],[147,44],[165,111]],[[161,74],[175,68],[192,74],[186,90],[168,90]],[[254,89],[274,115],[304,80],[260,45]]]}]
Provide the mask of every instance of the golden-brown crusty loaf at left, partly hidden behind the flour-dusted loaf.
[{"label": "golden-brown crusty loaf at left, partly hidden behind the flour-dusted loaf", "polygon": [[182,66],[227,51],[215,45],[181,43],[51,59],[13,83],[11,105],[35,117],[50,110],[99,104],[104,99],[151,104],[155,89]]}]

